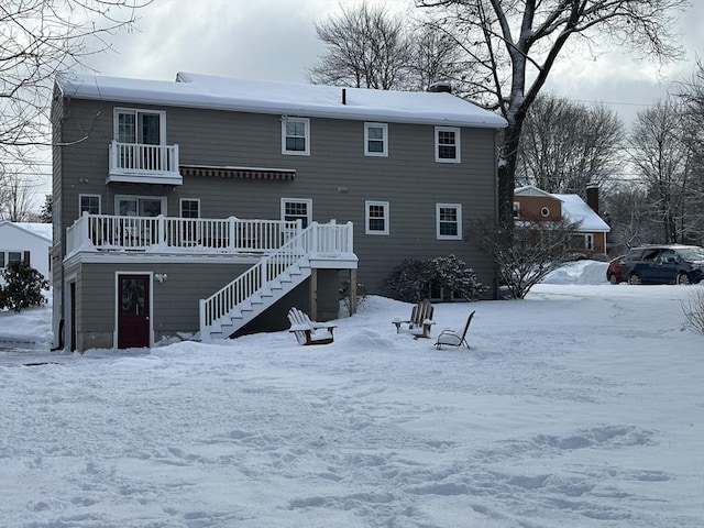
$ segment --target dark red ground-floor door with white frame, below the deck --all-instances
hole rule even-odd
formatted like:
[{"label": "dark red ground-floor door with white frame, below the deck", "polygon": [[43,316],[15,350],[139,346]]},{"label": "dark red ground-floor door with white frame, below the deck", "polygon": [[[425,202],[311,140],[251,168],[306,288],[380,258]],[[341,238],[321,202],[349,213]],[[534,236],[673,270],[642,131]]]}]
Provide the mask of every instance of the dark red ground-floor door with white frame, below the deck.
[{"label": "dark red ground-floor door with white frame, below the deck", "polygon": [[118,275],[118,348],[150,345],[150,276]]}]

